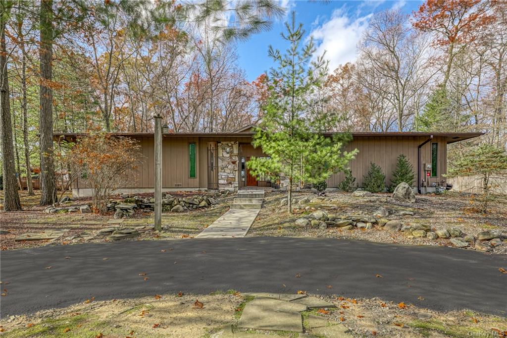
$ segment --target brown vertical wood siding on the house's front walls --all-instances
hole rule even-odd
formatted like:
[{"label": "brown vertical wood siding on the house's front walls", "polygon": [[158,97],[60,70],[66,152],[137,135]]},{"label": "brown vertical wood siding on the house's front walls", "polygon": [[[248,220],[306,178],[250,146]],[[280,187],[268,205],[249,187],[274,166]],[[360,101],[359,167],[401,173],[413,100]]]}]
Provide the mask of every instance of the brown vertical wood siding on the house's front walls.
[{"label": "brown vertical wood siding on the house's front walls", "polygon": [[[154,180],[154,149],[153,137],[136,137],[140,143],[139,165],[137,170],[128,173],[125,183],[119,188],[153,188]],[[349,165],[352,175],[356,178],[358,186],[363,184],[363,176],[368,172],[370,162],[375,162],[382,167],[386,175],[386,185],[390,184],[391,173],[396,165],[396,157],[405,154],[414,170],[417,168],[417,147],[426,141],[423,136],[387,136],[355,137],[345,146],[345,150],[358,149],[356,158]],[[190,142],[196,143],[196,178],[189,178],[189,149]],[[262,156],[261,149],[251,146],[250,137],[167,137],[162,143],[162,187],[163,188],[206,188],[207,187],[207,145],[208,142],[238,142],[241,145],[240,156]],[[432,183],[444,180],[443,174],[447,170],[447,144],[445,137],[436,137],[421,149],[421,178],[424,177],[423,163],[431,163],[431,143],[438,142],[438,176],[428,179],[428,186]],[[239,162],[239,161],[238,161]],[[337,187],[344,179],[343,173],[332,175],[328,180],[329,187]],[[415,173],[414,186],[417,186],[417,172]],[[80,179],[79,188],[89,188],[86,179]],[[176,185],[176,184],[181,184]],[[75,185],[75,187],[77,187]]]}]

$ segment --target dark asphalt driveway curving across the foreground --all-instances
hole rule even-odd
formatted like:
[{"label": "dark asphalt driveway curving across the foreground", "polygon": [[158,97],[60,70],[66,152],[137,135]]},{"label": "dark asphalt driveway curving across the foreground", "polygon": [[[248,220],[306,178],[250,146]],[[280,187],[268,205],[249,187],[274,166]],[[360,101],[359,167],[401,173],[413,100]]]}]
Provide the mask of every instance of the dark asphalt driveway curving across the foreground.
[{"label": "dark asphalt driveway curving across the foreground", "polygon": [[65,307],[90,297],[229,289],[378,296],[434,310],[466,308],[507,316],[502,296],[507,275],[498,271],[507,269],[507,256],[470,250],[236,238],[55,246],[0,255],[0,280],[7,289],[1,298],[2,317]]}]

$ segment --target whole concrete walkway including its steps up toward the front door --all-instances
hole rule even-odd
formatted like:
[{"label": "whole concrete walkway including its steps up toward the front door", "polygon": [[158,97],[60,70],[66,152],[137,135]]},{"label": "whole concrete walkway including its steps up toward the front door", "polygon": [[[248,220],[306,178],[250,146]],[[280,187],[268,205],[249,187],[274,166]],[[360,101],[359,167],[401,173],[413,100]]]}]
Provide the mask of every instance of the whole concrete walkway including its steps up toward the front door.
[{"label": "whole concrete walkway including its steps up toward the front door", "polygon": [[231,209],[196,238],[244,237],[262,208],[263,190],[239,190]]}]

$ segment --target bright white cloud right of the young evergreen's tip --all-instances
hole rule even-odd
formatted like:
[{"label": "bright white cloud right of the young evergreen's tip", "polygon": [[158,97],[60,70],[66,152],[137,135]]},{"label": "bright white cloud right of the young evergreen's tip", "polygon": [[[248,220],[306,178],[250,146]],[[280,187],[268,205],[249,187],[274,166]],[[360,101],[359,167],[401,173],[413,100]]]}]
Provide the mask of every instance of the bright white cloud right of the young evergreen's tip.
[{"label": "bright white cloud right of the young evergreen's tip", "polygon": [[328,21],[310,32],[317,46],[315,57],[325,51],[330,72],[340,64],[354,61],[357,58],[357,43],[368,27],[371,16],[372,14],[350,17],[343,8],[333,11]]}]

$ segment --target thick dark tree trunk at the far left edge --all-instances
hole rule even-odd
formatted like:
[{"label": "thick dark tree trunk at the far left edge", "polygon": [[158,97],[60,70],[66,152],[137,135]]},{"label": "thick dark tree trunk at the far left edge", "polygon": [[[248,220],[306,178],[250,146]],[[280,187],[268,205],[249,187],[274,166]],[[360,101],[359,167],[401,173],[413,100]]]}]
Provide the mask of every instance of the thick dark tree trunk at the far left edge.
[{"label": "thick dark tree trunk at the far left edge", "polygon": [[7,21],[6,3],[2,2],[0,8],[2,15],[0,16],[0,107],[2,110],[2,118],[0,120],[0,134],[2,134],[2,169],[4,175],[4,210],[14,211],[21,210],[21,202],[19,201],[18,187],[16,184],[16,173],[14,168],[14,152],[12,150],[12,122],[11,122],[11,106],[9,102],[9,78],[7,74],[7,47],[5,43],[5,26]]}]

